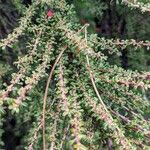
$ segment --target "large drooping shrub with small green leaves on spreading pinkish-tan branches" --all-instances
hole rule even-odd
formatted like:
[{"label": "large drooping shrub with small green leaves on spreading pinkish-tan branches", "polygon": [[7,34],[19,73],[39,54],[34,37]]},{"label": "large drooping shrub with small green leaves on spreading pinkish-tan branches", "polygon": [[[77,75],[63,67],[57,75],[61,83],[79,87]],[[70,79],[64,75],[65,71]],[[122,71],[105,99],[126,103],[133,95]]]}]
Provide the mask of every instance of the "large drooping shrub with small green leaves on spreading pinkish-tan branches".
[{"label": "large drooping shrub with small green leaves on spreading pinkish-tan branches", "polygon": [[23,122],[33,121],[24,148],[97,150],[107,141],[115,149],[150,148],[150,122],[145,117],[150,103],[143,92],[150,88],[150,73],[111,66],[103,54],[111,46],[149,43],[87,34],[87,25],[80,27],[65,0],[35,1],[27,13],[0,43],[5,48],[19,36],[31,39],[27,53],[15,62],[18,72],[0,93],[0,107],[20,113]]}]

